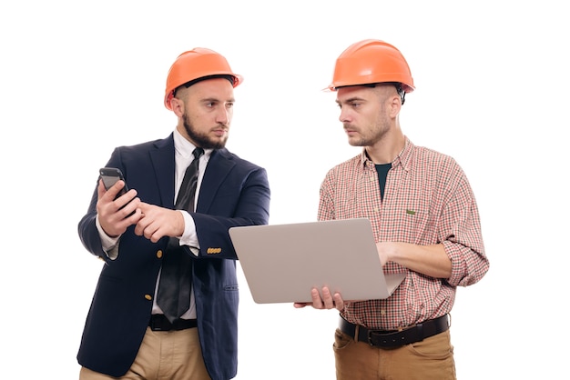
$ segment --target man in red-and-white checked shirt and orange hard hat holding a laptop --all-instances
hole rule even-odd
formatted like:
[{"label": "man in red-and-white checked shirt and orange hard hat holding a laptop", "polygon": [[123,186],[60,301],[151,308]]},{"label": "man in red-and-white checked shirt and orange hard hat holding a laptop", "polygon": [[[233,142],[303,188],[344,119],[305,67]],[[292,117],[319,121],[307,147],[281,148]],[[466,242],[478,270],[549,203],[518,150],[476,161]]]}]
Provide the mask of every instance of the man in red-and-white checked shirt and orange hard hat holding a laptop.
[{"label": "man in red-and-white checked shirt and orange hard hat holding a laptop", "polygon": [[489,269],[471,186],[452,157],[403,135],[399,114],[414,85],[396,47],[380,40],[349,46],[329,89],[349,144],[363,149],[325,176],[319,220],[369,218],[384,272],[406,277],[387,299],[348,301],[325,287],[312,290],[312,303],[295,306],[340,311],[339,380],[455,379],[455,292]]}]

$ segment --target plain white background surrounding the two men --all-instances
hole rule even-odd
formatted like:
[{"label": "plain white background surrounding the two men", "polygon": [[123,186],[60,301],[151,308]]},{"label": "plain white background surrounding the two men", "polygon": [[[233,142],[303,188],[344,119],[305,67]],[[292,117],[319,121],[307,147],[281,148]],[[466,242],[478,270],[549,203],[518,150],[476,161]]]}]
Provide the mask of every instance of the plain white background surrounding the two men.
[{"label": "plain white background surrounding the two men", "polygon": [[[417,86],[404,133],[463,166],[482,216],[491,269],[458,290],[458,377],[567,378],[563,9],[554,0],[2,3],[0,377],[77,377],[101,262],[76,225],[115,146],[174,128],[162,99],[178,54],[209,47],[245,76],[228,147],[267,168],[270,223],[294,223],[316,219],[326,171],[358,153],[335,95],[321,89],[345,47],[378,38],[400,48]],[[239,280],[237,379],[334,378],[336,313],[257,305]]]}]

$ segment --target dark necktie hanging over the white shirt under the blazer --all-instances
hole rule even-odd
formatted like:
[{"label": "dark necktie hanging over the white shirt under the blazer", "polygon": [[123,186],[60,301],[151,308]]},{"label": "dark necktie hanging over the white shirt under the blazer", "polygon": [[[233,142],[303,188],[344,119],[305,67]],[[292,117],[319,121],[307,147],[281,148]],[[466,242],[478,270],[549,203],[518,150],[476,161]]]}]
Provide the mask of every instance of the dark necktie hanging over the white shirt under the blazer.
[{"label": "dark necktie hanging over the white shirt under the blazer", "polygon": [[[194,211],[194,196],[198,185],[198,161],[204,149],[196,148],[194,160],[188,165],[178,191],[175,208]],[[192,283],[192,259],[180,247],[178,238],[170,237],[168,249],[162,259],[162,271],[158,284],[157,304],[170,323],[188,311]]]}]

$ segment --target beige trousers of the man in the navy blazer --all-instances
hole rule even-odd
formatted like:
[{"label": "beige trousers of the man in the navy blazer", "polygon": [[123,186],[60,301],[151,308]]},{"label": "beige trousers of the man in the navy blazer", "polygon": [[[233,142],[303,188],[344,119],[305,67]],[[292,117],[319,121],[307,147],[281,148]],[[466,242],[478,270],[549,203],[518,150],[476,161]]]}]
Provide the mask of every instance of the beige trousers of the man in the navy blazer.
[{"label": "beige trousers of the man in the navy blazer", "polygon": [[198,340],[198,329],[152,331],[149,327],[127,374],[113,377],[81,368],[79,380],[210,380]]}]

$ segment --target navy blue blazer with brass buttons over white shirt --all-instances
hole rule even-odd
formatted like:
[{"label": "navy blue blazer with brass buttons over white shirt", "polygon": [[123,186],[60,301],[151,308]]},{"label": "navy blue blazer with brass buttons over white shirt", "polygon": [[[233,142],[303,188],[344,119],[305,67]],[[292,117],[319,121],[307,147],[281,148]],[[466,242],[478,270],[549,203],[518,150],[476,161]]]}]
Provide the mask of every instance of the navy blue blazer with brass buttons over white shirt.
[{"label": "navy blue blazer with brass buttons over white shirt", "polygon": [[[118,167],[129,188],[143,202],[174,208],[174,140],[169,135],[140,145],[117,147],[107,166]],[[77,361],[93,371],[125,375],[137,355],[148,326],[160,268],[160,251],[168,237],[152,243],[130,226],[121,235],[116,260],[101,246],[95,218],[97,189],[87,215],[78,225],[81,242],[105,261],[87,321]],[[235,225],[267,225],[270,187],[267,172],[227,149],[212,152],[192,213],[198,232],[199,255],[193,265],[198,332],[212,380],[235,377],[238,366],[238,302],[236,252],[228,229]]]}]

